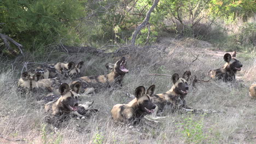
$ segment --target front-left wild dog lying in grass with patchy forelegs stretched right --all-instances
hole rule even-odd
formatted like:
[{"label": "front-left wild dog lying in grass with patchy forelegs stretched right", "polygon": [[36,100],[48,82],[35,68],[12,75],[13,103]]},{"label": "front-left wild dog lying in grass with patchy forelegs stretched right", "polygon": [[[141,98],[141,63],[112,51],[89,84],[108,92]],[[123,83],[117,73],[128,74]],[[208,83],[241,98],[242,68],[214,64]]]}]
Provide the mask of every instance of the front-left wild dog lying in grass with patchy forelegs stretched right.
[{"label": "front-left wild dog lying in grass with patchy forelegs stretched right", "polygon": [[[63,83],[59,87],[60,97],[51,99],[49,103],[44,105],[44,109],[50,115],[46,121],[48,123],[56,123],[63,121],[69,114],[73,114],[80,118],[86,115],[89,110],[89,106],[93,104],[92,102],[87,102],[84,105],[78,104],[78,93],[81,89],[81,83],[74,83],[73,87],[69,87],[67,83]],[[49,100],[49,99],[45,99]],[[92,112],[97,112],[98,110],[92,110]],[[80,115],[81,113],[82,115]]]}]

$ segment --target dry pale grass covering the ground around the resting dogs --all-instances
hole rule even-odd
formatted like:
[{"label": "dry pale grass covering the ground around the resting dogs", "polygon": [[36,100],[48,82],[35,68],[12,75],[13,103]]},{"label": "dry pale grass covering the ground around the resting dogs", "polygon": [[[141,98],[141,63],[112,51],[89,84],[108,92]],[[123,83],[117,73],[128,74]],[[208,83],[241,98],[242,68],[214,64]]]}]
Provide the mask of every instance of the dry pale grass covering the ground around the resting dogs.
[{"label": "dry pale grass covering the ground around the resting dogs", "polygon": [[[191,40],[189,40],[191,41]],[[165,41],[166,42],[166,41]],[[0,75],[0,143],[255,143],[256,115],[255,100],[249,98],[248,85],[255,82],[256,59],[245,60],[243,70],[238,76],[245,85],[207,82],[190,87],[187,104],[199,109],[218,110],[220,113],[193,115],[191,113],[168,113],[168,117],[158,124],[143,120],[131,128],[129,125],[112,121],[110,110],[117,103],[131,100],[125,93],[133,93],[138,86],[156,85],[156,93],[171,88],[170,77],[148,76],[149,73],[182,75],[190,70],[199,79],[205,79],[210,68],[219,68],[224,64],[223,56],[210,55],[207,50],[195,49],[184,41],[167,41],[159,44],[161,49],[151,48],[134,52],[128,58],[129,73],[125,75],[123,88],[110,92],[99,92],[81,101],[94,100],[93,107],[100,113],[91,118],[77,120],[71,118],[54,132],[44,123],[45,113],[36,102],[33,94],[21,97],[16,91],[17,71],[2,68]],[[172,44],[171,44],[172,43]],[[181,47],[181,45],[183,47]],[[162,52],[166,47],[166,52]],[[223,52],[225,53],[225,52]],[[191,63],[195,57],[199,58]],[[107,74],[104,64],[115,62],[118,58],[91,56],[85,53],[63,55],[55,61],[85,61],[82,75]],[[54,62],[54,61],[52,61]],[[187,126],[186,126],[187,125]],[[186,126],[186,127],[185,127]],[[189,133],[189,134],[188,134]],[[3,139],[23,139],[14,142]]]}]

